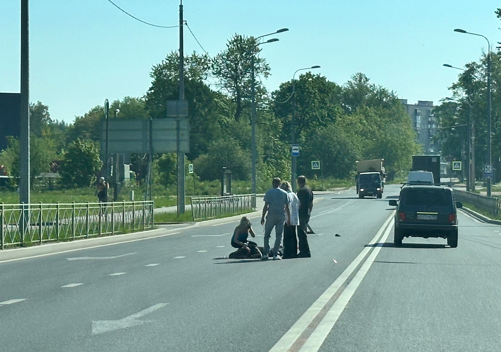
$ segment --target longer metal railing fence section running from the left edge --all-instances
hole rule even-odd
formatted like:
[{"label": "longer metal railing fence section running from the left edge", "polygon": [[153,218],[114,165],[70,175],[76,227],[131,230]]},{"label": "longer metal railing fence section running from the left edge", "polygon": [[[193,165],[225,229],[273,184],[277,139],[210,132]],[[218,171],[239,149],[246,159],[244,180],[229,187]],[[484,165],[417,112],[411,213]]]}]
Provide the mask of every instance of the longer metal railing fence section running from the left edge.
[{"label": "longer metal railing fence section running from the left edge", "polygon": [[144,230],[153,200],[108,203],[0,204],[1,248]]}]

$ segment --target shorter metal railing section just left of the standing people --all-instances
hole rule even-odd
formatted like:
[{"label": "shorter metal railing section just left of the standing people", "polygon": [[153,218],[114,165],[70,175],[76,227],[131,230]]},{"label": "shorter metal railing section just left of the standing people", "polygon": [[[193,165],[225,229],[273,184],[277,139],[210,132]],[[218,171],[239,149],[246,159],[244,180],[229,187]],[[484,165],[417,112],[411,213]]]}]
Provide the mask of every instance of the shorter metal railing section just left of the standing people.
[{"label": "shorter metal railing section just left of the standing people", "polygon": [[191,197],[193,221],[208,220],[220,215],[254,210],[256,194]]}]

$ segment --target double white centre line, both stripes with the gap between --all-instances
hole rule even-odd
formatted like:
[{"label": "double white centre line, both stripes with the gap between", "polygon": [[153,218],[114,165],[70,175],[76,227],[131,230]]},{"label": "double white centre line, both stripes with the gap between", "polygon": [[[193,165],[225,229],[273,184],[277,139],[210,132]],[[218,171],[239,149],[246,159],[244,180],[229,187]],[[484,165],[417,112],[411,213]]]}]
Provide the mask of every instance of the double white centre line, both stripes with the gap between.
[{"label": "double white centre line, both stripes with the gap between", "polygon": [[[334,327],[334,324],[348,304],[348,301],[355,293],[360,282],[362,282],[367,271],[369,271],[371,264],[381,250],[381,246],[386,241],[386,238],[388,238],[392,228],[391,221],[393,215],[394,211],[391,212],[390,216],[386,219],[368,245],[364,247],[360,254],[358,254],[343,273],[339,275],[308,310],[301,315],[298,321],[296,321],[275,346],[270,349],[270,352],[317,352],[320,349],[320,346]],[[376,243],[377,245],[375,245]],[[342,287],[345,281],[353,274],[355,269],[373,247],[374,250],[369,254],[362,266],[360,266],[360,269],[353,279],[343,289]],[[340,289],[341,292],[339,294],[338,291],[340,291]],[[339,297],[332,302],[331,299],[333,299],[336,294],[339,294]],[[326,310],[327,312],[325,313]],[[321,317],[321,315],[323,315],[323,317]],[[316,323],[313,323],[314,320]],[[309,332],[311,333],[308,335]]]}]

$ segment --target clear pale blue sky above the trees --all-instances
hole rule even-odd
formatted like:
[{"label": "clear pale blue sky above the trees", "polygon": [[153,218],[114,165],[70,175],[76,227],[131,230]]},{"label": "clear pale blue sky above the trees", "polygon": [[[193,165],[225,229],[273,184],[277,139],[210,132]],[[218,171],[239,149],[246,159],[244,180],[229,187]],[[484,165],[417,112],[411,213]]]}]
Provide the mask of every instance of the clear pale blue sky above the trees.
[{"label": "clear pale blue sky above the trees", "polygon": [[[30,1],[30,100],[49,105],[67,122],[126,95],[142,96],[151,66],[178,47],[177,28],[155,28],[107,0]],[[178,23],[178,0],[114,0],[135,16]],[[301,67],[339,84],[355,72],[394,90],[409,103],[447,95],[458,70],[478,59],[486,41],[501,41],[494,0],[184,0],[184,19],[214,55],[233,33],[262,35],[282,27],[280,41],[263,45],[270,90]],[[185,52],[200,47],[185,29]],[[0,91],[20,90],[20,0],[0,1]]]}]

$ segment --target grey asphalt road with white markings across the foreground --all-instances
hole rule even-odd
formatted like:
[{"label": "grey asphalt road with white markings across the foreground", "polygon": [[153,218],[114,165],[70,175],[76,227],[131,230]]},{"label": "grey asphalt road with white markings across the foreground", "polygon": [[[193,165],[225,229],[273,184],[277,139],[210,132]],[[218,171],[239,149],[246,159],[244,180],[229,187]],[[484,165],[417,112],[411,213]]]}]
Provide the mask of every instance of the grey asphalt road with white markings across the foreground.
[{"label": "grey asphalt road with white markings across the foreground", "polygon": [[311,258],[221,259],[236,220],[219,220],[0,261],[0,350],[498,350],[501,228],[460,213],[457,248],[393,247],[398,190],[318,195]]}]

